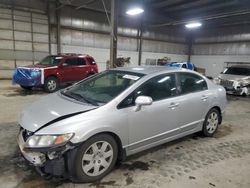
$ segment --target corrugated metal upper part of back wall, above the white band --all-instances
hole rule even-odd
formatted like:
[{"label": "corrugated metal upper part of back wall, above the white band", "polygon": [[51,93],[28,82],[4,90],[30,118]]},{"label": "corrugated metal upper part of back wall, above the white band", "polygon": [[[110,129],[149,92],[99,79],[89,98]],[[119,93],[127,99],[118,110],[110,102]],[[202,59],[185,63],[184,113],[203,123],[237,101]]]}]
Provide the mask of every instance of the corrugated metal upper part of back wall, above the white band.
[{"label": "corrugated metal upper part of back wall, above the white band", "polygon": [[[107,18],[102,13],[88,10],[76,11],[72,7],[63,7],[61,10],[61,43],[62,45],[86,46],[109,49],[110,27]],[[56,27],[55,14],[52,12],[51,23]],[[129,26],[118,28],[118,50],[137,51],[137,29]],[[184,45],[185,37],[145,31],[143,33],[143,51],[181,54],[187,53]],[[178,42],[178,43],[176,43]],[[52,32],[52,43],[56,44],[56,30]],[[182,43],[182,44],[179,44]],[[178,48],[180,47],[180,48]]]}]

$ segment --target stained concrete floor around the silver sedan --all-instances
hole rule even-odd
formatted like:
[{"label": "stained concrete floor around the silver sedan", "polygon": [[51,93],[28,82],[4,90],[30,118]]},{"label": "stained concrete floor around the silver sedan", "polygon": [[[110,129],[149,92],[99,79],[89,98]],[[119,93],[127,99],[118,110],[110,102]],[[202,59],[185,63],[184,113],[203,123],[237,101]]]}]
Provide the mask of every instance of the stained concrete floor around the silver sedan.
[{"label": "stained concrete floor around the silver sedan", "polygon": [[41,95],[0,81],[0,187],[250,187],[250,98],[228,97],[213,138],[190,135],[130,157],[101,182],[73,184],[40,177],[17,147],[18,113]]}]

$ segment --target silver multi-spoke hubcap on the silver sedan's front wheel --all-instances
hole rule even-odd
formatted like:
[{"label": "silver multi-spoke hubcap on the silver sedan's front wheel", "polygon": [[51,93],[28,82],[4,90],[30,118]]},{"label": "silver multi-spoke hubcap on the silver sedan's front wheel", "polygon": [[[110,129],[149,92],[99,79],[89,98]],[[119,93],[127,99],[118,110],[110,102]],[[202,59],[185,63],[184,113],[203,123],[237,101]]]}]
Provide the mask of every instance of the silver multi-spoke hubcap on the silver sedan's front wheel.
[{"label": "silver multi-spoke hubcap on the silver sedan's front wheel", "polygon": [[106,141],[92,144],[82,157],[82,169],[88,176],[98,176],[105,172],[113,159],[113,148]]}]

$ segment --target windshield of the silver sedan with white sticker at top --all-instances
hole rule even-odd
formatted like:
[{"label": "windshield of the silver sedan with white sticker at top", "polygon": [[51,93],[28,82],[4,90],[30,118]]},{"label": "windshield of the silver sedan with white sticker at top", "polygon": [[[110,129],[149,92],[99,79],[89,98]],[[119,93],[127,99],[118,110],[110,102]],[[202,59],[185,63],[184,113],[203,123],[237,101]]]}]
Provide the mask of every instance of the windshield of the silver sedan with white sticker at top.
[{"label": "windshield of the silver sedan with white sticker at top", "polygon": [[99,106],[111,101],[142,76],[140,73],[109,70],[79,82],[61,93],[75,100]]}]

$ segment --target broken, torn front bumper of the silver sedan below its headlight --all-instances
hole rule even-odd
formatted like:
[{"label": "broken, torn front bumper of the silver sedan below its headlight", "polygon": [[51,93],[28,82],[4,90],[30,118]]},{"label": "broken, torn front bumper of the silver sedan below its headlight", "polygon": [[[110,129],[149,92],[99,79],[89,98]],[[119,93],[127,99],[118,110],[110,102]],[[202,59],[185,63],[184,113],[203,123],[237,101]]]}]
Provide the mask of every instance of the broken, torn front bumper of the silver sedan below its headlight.
[{"label": "broken, torn front bumper of the silver sedan below its headlight", "polygon": [[73,150],[76,146],[66,144],[55,148],[25,148],[23,132],[24,130],[20,130],[17,138],[23,157],[32,166],[35,166],[42,175],[49,174],[58,177],[66,177],[68,151]]}]

